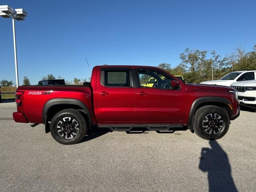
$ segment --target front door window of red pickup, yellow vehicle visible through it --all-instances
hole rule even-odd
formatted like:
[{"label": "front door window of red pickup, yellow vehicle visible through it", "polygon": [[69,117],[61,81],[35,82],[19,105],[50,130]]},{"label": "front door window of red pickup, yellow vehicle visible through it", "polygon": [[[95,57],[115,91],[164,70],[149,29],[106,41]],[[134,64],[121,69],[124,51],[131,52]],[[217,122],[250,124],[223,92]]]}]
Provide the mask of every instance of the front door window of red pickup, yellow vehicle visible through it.
[{"label": "front door window of red pickup, yellow vehicle visible through it", "polygon": [[139,71],[140,88],[172,89],[172,80],[156,71]]}]

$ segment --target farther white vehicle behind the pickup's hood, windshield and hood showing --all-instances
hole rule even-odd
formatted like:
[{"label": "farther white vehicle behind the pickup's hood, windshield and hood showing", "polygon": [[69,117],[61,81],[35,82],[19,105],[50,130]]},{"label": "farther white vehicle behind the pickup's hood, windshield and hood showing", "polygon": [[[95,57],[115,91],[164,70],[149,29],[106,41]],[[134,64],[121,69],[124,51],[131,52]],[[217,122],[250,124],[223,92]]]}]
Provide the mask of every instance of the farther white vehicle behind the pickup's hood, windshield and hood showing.
[{"label": "farther white vehicle behind the pickup's hood, windshield and hood showing", "polygon": [[220,80],[213,80],[213,81],[204,81],[201,84],[213,84],[213,85],[224,85],[230,86],[234,82],[246,81],[246,80],[255,80],[256,79],[256,70],[252,71],[236,71],[231,72]]}]

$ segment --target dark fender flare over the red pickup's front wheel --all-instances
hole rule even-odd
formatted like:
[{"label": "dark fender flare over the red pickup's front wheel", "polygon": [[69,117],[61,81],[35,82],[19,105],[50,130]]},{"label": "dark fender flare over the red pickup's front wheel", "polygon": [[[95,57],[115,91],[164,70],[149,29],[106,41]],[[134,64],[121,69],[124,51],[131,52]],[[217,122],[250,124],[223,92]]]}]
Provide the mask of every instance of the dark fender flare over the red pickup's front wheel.
[{"label": "dark fender flare over the red pickup's front wheel", "polygon": [[206,105],[214,105],[221,108],[224,108],[224,110],[227,110],[228,116],[230,117],[230,114],[232,114],[232,109],[228,107],[229,105],[232,106],[230,101],[223,97],[216,97],[216,96],[206,96],[206,97],[200,97],[194,100],[192,103],[192,106],[190,108],[189,112],[189,119],[188,119],[188,128],[190,131],[194,132],[193,130],[193,122],[194,122],[194,115],[196,113],[196,110],[202,106]]}]

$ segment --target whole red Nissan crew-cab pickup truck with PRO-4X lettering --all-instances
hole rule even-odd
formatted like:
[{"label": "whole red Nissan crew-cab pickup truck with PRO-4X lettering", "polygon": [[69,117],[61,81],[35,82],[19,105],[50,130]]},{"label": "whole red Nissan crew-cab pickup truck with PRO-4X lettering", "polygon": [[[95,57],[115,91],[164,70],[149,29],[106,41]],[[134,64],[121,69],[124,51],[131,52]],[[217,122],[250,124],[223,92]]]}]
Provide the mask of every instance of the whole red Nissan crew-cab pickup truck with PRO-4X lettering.
[{"label": "whole red Nissan crew-cab pickup truck with PRO-4X lettering", "polygon": [[[155,78],[152,87],[145,80]],[[88,129],[170,130],[188,127],[204,139],[226,134],[240,114],[236,90],[185,84],[149,66],[95,66],[81,86],[19,86],[16,122],[44,124],[61,144],[80,142]]]}]

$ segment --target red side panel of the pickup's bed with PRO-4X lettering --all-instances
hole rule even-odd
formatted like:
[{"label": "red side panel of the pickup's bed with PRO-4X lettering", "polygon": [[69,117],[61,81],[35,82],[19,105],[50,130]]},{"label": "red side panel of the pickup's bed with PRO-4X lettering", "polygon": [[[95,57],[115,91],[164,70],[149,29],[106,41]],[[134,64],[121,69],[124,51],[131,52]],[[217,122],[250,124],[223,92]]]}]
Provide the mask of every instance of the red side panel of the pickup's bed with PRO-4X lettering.
[{"label": "red side panel of the pickup's bed with PRO-4X lettering", "polygon": [[17,107],[18,112],[25,113],[31,123],[44,123],[42,117],[44,105],[54,98],[76,98],[86,104],[88,110],[92,112],[90,86],[19,86],[17,91],[23,92],[20,96],[22,106]]}]

